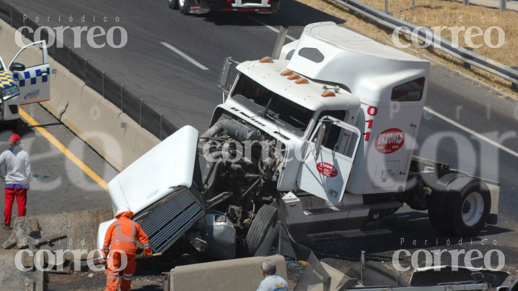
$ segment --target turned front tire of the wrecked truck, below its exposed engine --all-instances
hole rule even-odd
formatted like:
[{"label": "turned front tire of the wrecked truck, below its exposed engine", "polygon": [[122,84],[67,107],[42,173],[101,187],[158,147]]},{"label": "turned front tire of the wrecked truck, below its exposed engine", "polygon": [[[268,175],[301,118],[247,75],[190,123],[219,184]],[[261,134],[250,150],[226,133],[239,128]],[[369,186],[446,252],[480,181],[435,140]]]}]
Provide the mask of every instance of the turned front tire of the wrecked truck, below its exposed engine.
[{"label": "turned front tire of the wrecked truck, below its exposed engine", "polygon": [[277,208],[271,205],[263,205],[257,215],[255,215],[250,229],[247,234],[247,250],[251,256],[255,255],[255,252],[263,243],[268,230],[275,225],[277,221]]}]

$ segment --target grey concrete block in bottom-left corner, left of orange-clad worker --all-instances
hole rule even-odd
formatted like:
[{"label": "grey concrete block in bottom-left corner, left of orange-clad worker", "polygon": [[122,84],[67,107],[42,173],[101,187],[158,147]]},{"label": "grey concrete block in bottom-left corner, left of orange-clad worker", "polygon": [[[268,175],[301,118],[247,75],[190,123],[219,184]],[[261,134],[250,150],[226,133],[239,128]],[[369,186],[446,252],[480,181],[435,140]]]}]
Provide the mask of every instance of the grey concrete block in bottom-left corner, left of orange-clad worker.
[{"label": "grey concrete block in bottom-left corner, left of orange-clad worker", "polygon": [[15,267],[17,250],[0,250],[0,291],[46,291],[48,277],[47,273],[34,267],[34,256],[30,256],[24,250],[20,254],[21,267],[30,269],[27,271],[19,270]]}]

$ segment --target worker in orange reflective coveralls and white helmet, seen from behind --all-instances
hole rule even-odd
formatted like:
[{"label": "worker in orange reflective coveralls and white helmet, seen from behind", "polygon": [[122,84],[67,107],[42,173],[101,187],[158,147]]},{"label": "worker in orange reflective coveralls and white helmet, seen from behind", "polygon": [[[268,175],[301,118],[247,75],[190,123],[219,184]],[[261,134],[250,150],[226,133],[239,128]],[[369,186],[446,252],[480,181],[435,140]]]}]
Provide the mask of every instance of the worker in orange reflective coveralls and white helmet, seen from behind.
[{"label": "worker in orange reflective coveralls and white helmet, seen from behind", "polygon": [[[127,207],[119,207],[114,221],[106,231],[104,238],[103,254],[104,258],[100,260],[101,264],[106,264],[108,258],[108,266],[106,267],[106,291],[117,291],[119,286],[120,271],[122,271],[121,291],[131,289],[131,281],[133,274],[137,268],[135,255],[137,251],[136,240],[140,241],[144,246],[144,255],[151,255],[149,248],[148,236],[140,228],[140,226],[131,220],[133,212]],[[127,264],[124,267],[124,255],[127,256]],[[121,257],[122,256],[122,257]],[[122,264],[122,266],[121,266]]]}]

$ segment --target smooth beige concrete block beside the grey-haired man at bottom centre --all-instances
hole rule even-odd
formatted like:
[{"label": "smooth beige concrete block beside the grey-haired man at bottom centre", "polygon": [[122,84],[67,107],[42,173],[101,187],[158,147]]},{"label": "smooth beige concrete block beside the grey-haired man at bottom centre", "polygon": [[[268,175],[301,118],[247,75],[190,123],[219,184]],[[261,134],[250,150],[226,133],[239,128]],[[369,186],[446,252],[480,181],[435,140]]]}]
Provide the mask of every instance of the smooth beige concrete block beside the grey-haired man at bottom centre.
[{"label": "smooth beige concrete block beside the grey-haired man at bottom centre", "polygon": [[169,276],[169,290],[255,290],[264,279],[261,266],[267,258],[277,262],[277,275],[286,279],[283,256],[251,257],[176,267]]}]

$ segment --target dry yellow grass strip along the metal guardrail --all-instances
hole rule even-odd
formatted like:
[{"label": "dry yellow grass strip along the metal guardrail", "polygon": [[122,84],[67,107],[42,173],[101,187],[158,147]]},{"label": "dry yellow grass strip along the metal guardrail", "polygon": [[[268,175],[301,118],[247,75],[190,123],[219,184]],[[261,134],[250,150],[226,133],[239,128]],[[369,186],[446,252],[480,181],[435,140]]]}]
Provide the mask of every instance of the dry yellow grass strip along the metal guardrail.
[{"label": "dry yellow grass strip along the metal guardrail", "polygon": [[[349,28],[352,28],[370,38],[386,43],[387,45],[394,46],[392,42],[392,30],[377,25],[376,23],[369,21],[367,18],[354,13],[354,11],[336,4],[332,0],[297,1],[329,13],[334,17],[343,19],[345,21],[345,25]],[[380,11],[385,10],[384,0],[363,0],[363,2]],[[389,5],[389,10],[394,13],[395,17],[399,19],[404,18],[405,21],[420,26],[464,26],[465,29],[470,26],[478,26],[483,32],[491,26],[501,27],[505,33],[505,42],[501,47],[488,47],[484,43],[484,36],[481,35],[471,38],[474,44],[483,44],[482,47],[475,48],[474,52],[490,57],[491,59],[508,66],[518,66],[518,12],[510,10],[502,12],[496,8],[476,5],[465,6],[459,2],[444,0],[416,0],[415,11],[412,11],[412,0],[389,0]],[[472,35],[476,32],[477,31],[474,30]],[[451,41],[452,33],[449,29],[444,29],[442,30],[441,37]],[[410,37],[408,36],[402,36],[400,39],[401,43],[411,43]],[[498,33],[496,30],[493,30],[491,33],[491,41],[493,45],[498,43]],[[464,32],[460,32],[458,34],[458,45],[460,47],[466,46]],[[433,49],[431,47],[420,49],[412,45],[410,49],[407,49],[406,51],[414,54],[418,53],[426,55],[445,66],[461,71],[466,75],[476,78],[502,92],[518,98],[518,92],[511,90],[511,82],[478,68],[472,67],[471,69],[465,69],[463,67],[463,62],[458,61],[454,57],[451,57],[440,50]]]}]

